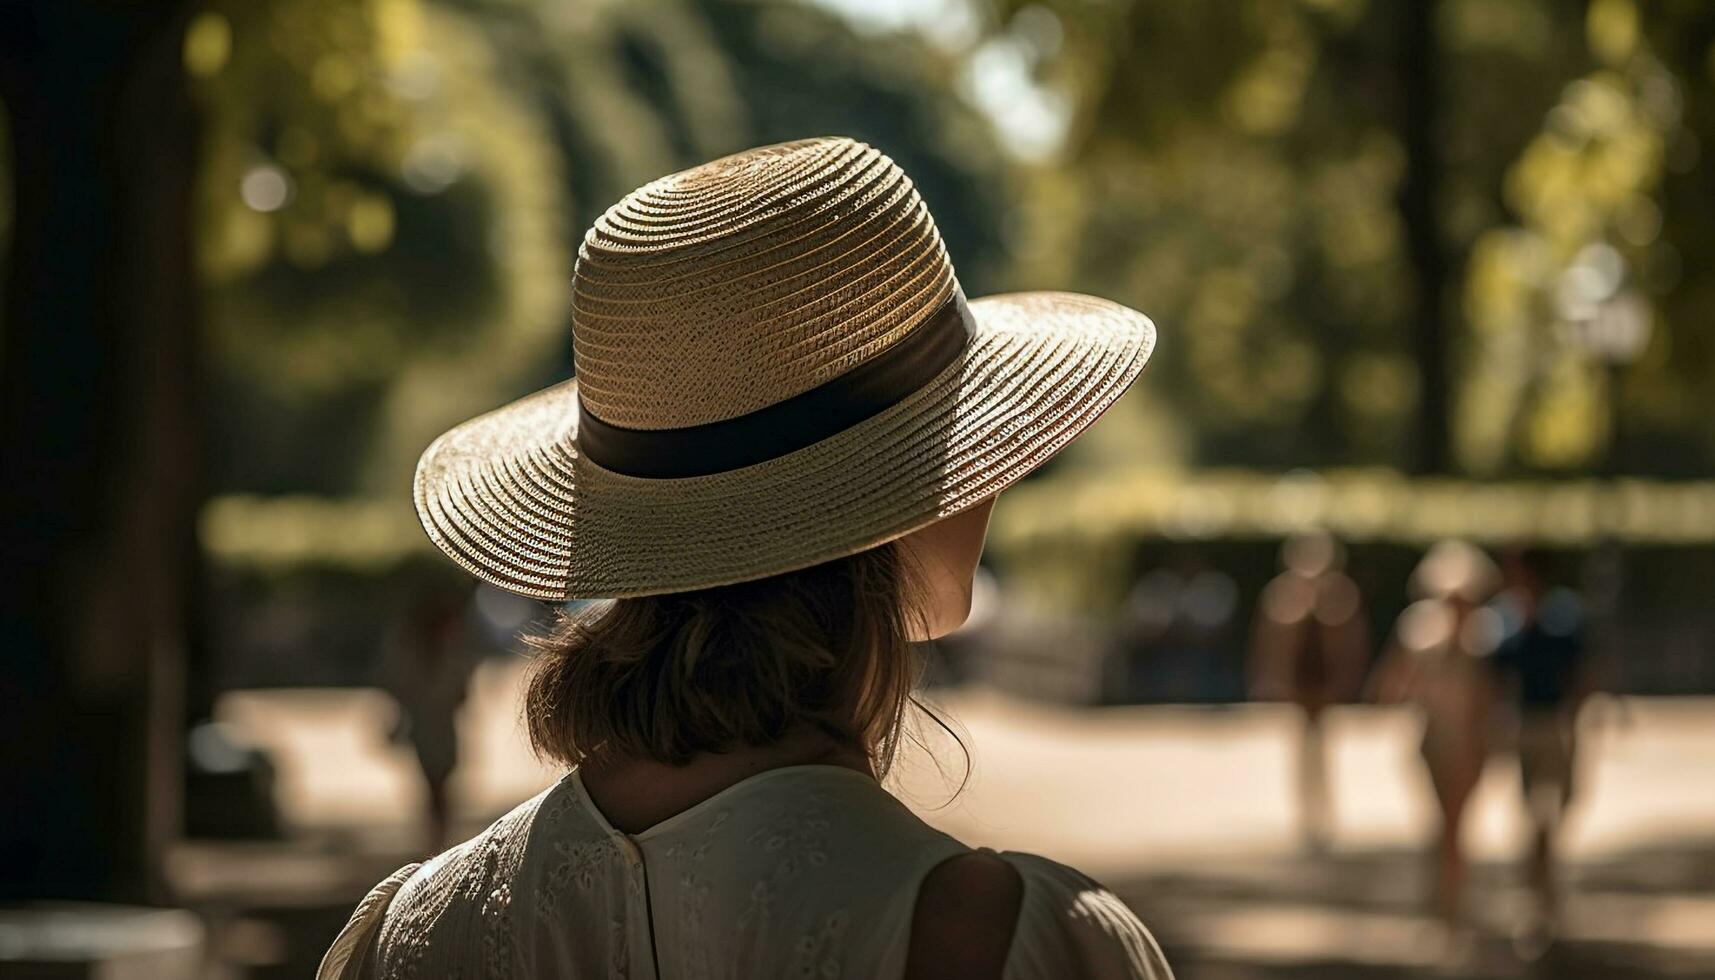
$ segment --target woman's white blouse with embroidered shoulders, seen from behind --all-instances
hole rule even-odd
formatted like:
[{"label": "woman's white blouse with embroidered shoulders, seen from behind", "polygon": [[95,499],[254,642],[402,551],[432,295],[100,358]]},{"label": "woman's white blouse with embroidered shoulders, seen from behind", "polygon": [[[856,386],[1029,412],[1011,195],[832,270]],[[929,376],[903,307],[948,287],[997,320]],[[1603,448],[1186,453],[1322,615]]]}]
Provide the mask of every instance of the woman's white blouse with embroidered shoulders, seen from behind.
[{"label": "woman's white blouse with embroidered shoulders, seen from behind", "polygon": [[[317,978],[900,977],[919,882],[967,851],[837,765],[760,772],[640,834],[573,771],[376,886]],[[1113,892],[1000,856],[1024,879],[1008,980],[1171,980]]]}]

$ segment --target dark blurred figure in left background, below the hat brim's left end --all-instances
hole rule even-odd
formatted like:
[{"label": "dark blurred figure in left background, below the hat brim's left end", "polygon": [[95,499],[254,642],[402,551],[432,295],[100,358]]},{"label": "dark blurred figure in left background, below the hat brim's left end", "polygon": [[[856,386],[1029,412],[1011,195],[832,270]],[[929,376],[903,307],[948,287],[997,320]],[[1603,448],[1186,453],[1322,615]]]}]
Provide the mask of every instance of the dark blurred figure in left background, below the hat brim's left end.
[{"label": "dark blurred figure in left background, below the hat brim's left end", "polygon": [[382,640],[382,685],[400,705],[396,741],[410,741],[429,795],[429,850],[449,843],[449,781],[458,765],[458,709],[475,669],[470,589],[424,575]]}]

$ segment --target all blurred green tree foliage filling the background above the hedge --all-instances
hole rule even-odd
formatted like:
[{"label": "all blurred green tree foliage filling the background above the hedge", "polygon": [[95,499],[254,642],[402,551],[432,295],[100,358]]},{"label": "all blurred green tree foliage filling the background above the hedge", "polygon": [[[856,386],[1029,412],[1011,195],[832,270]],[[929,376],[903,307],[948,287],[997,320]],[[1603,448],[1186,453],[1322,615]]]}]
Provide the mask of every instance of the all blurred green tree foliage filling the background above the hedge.
[{"label": "all blurred green tree foliage filling the background above the hedge", "polygon": [[[436,433],[571,369],[569,269],[602,208],[821,132],[899,158],[969,292],[1159,321],[1147,383],[1056,465],[1401,467],[1423,395],[1401,9],[993,0],[981,36],[931,41],[808,0],[208,0],[184,55],[216,489],[403,513]],[[1459,469],[1706,472],[1715,7],[1437,10]],[[1010,158],[972,108],[996,43],[1067,108],[1058,151]],[[1568,285],[1614,268],[1600,302],[1650,328],[1619,369]]]}]

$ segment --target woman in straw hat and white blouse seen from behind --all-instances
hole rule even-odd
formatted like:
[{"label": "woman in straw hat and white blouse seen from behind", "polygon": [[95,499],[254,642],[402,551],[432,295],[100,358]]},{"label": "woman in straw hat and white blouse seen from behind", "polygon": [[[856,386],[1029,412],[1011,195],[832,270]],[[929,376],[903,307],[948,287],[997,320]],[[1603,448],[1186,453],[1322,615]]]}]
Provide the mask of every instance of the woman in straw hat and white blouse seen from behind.
[{"label": "woman in straw hat and white blouse seen from behind", "polygon": [[1168,977],[1111,892],[890,796],[911,640],[969,614],[996,493],[1142,371],[1070,293],[966,304],[849,139],[648,184],[585,237],[578,378],[460,426],[429,537],[542,599],[535,748],[568,774],[377,886],[322,977]]}]

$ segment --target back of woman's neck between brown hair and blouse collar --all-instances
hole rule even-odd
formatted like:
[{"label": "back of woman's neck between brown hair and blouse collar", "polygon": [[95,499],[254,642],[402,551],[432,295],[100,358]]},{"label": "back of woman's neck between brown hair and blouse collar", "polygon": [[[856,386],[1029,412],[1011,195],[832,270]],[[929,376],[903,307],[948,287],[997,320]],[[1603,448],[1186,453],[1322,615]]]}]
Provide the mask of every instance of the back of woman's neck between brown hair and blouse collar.
[{"label": "back of woman's neck between brown hair and blouse collar", "polygon": [[636,834],[758,772],[785,765],[840,765],[875,779],[866,753],[813,728],[792,729],[770,745],[705,752],[684,765],[621,757],[583,764],[578,776],[607,822]]}]

